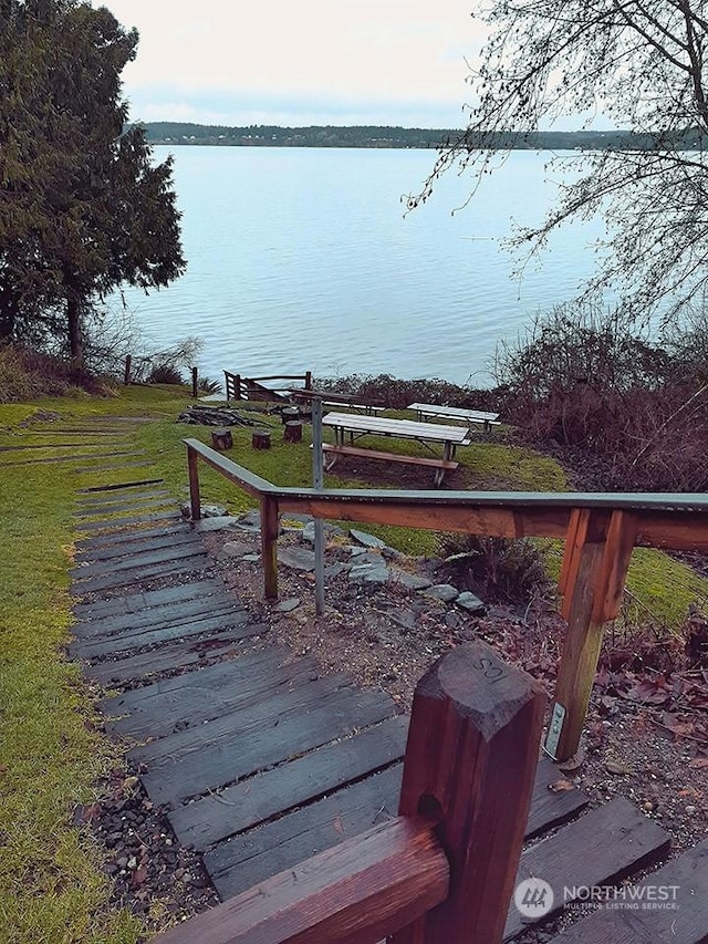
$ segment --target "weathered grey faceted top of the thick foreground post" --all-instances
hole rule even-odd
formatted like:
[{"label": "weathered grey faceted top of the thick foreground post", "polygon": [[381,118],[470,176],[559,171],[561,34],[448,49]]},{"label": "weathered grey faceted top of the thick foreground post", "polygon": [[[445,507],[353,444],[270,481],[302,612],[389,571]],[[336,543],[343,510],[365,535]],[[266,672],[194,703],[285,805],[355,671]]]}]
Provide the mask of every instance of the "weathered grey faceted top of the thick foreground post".
[{"label": "weathered grey faceted top of the thick foreground post", "polygon": [[491,740],[539,694],[545,695],[540,682],[509,665],[483,642],[446,653],[416,687],[416,698],[449,701],[459,716],[473,723],[485,740]]}]

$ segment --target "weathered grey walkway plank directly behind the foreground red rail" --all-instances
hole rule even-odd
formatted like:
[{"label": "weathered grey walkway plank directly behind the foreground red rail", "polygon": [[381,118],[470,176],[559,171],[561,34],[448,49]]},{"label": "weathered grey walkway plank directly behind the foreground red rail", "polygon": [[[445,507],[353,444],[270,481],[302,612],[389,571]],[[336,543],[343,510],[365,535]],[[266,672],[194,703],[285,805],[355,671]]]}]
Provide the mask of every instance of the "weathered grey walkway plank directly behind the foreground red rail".
[{"label": "weathered grey walkway plank directly behind the foreground red rail", "polygon": [[204,864],[221,901],[392,819],[402,772],[397,764],[207,852]]}]

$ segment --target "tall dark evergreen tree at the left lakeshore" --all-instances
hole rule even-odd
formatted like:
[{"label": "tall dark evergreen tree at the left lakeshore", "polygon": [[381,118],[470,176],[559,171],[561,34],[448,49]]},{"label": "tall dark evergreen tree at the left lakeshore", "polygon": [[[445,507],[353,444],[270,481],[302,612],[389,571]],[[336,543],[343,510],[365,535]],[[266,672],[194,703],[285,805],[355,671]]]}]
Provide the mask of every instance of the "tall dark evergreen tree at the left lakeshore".
[{"label": "tall dark evergreen tree at the left lakeshore", "polygon": [[96,302],[185,269],[171,159],[125,134],[137,32],[76,0],[0,0],[0,336],[61,332],[83,369]]}]

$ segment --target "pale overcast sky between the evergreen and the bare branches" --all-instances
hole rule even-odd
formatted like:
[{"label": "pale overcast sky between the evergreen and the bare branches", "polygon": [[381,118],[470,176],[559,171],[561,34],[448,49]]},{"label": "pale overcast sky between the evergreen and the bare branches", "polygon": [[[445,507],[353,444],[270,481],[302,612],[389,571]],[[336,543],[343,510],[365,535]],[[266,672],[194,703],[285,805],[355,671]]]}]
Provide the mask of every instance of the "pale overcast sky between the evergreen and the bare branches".
[{"label": "pale overcast sky between the evergreen and the bare branches", "polygon": [[140,33],[136,121],[461,127],[477,0],[94,0]]}]

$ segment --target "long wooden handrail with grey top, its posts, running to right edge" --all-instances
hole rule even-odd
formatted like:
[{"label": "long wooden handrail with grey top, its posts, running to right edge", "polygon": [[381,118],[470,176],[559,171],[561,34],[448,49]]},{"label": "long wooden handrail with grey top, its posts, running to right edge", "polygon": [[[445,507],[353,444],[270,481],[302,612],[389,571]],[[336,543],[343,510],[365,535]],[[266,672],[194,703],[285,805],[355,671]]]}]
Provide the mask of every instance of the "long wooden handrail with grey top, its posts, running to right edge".
[{"label": "long wooden handrail with grey top, its posts, running to right edge", "polygon": [[197,439],[185,443],[192,519],[200,516],[199,460],[258,499],[267,598],[278,595],[278,519],[282,512],[504,538],[563,539],[560,591],[568,632],[545,743],[549,754],[559,760],[577,749],[603,624],[618,614],[632,549],[642,544],[708,551],[706,495],[284,488]]}]

